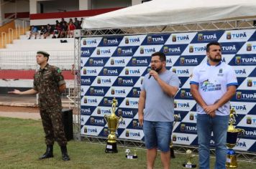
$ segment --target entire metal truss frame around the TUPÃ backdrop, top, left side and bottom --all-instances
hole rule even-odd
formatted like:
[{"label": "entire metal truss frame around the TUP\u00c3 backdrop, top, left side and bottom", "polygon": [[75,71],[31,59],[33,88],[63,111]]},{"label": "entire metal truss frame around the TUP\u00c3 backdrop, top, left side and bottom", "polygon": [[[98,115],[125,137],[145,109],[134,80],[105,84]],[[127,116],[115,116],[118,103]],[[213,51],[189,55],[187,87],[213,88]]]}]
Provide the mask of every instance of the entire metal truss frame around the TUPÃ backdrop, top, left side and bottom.
[{"label": "entire metal truss frame around the TUP\u00c3 backdrop, top, left side and bottom", "polygon": [[[80,64],[81,64],[81,39],[83,37],[107,37],[114,35],[134,35],[134,34],[163,34],[163,33],[179,33],[179,32],[199,32],[199,31],[214,31],[214,30],[232,30],[232,29],[256,29],[256,18],[254,19],[234,19],[224,21],[205,21],[186,24],[171,24],[164,26],[142,26],[142,27],[124,27],[124,28],[101,28],[101,29],[81,29],[80,37],[75,37],[75,68],[77,71],[76,78],[80,79]],[[76,80],[75,87],[81,84]],[[76,140],[86,141],[88,143],[105,144],[106,137],[96,137],[81,135],[81,91],[79,98],[75,100],[75,112],[78,120],[74,122],[74,134]],[[116,140],[119,146],[145,148],[145,143],[137,140]],[[173,145],[175,153],[186,154],[186,150],[191,149],[194,154],[198,154],[198,148],[195,146]],[[215,155],[215,150],[211,149],[211,155]],[[237,151],[238,160],[256,163],[256,154]]]}]

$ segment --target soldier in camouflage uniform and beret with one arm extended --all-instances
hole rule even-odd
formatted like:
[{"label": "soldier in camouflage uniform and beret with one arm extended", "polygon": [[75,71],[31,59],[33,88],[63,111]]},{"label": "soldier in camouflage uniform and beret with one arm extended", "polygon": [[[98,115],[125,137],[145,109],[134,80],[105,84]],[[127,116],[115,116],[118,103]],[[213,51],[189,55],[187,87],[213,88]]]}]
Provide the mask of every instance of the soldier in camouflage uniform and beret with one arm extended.
[{"label": "soldier in camouflage uniform and beret with one arm extended", "polygon": [[47,52],[37,52],[37,64],[40,64],[40,69],[35,73],[34,86],[31,90],[24,92],[14,90],[9,93],[17,95],[34,95],[39,93],[40,115],[47,145],[46,152],[40,157],[40,160],[53,157],[54,140],[60,145],[63,160],[70,160],[61,115],[60,95],[65,90],[65,81],[61,70],[47,63],[49,56],[50,54]]}]

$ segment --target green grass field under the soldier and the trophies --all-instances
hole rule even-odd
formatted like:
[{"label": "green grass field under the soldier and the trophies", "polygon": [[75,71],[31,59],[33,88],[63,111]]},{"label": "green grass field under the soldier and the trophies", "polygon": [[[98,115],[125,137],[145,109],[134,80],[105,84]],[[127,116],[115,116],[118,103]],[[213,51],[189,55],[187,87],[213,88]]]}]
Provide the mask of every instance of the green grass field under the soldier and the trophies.
[{"label": "green grass field under the soldier and the trophies", "polygon": [[[0,168],[146,168],[144,149],[137,150],[138,159],[136,160],[126,159],[125,149],[119,146],[119,153],[106,154],[103,144],[72,140],[68,142],[70,161],[62,160],[57,143],[54,145],[54,158],[38,160],[40,155],[45,153],[41,121],[0,117]],[[181,168],[186,155],[175,154],[175,156],[176,158],[171,160],[171,168]],[[214,160],[215,158],[211,158],[211,168],[214,168]],[[198,163],[197,156],[194,161]],[[155,168],[162,168],[159,153]],[[256,164],[239,161],[239,168],[256,168]]]}]

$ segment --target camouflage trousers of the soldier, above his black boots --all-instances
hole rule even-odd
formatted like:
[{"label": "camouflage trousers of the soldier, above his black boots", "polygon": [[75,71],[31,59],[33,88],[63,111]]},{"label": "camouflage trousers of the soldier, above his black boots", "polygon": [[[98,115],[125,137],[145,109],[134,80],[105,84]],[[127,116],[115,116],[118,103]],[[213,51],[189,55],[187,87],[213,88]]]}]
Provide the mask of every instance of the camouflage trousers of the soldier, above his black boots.
[{"label": "camouflage trousers of the soldier, above his black boots", "polygon": [[60,146],[67,145],[61,109],[40,110],[40,115],[42,118],[42,127],[45,130],[46,145],[53,145],[55,140]]}]

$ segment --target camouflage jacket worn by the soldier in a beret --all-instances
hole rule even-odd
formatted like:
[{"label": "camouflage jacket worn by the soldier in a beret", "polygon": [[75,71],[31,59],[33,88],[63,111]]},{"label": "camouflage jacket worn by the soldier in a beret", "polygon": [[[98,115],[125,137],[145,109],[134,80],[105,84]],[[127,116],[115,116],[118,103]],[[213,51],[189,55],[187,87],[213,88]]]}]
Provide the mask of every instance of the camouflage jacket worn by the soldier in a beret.
[{"label": "camouflage jacket worn by the soldier in a beret", "polygon": [[58,67],[47,64],[35,73],[33,89],[39,93],[40,110],[62,107],[59,92],[62,84],[65,84],[65,81]]}]

